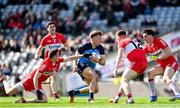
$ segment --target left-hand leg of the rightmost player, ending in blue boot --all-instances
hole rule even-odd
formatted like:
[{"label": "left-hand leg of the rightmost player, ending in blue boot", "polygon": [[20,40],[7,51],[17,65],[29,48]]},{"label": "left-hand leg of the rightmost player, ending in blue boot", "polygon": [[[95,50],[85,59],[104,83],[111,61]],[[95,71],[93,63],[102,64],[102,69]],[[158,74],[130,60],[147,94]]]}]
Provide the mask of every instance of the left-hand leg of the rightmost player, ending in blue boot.
[{"label": "left-hand leg of the rightmost player, ending in blue boot", "polygon": [[154,68],[148,71],[148,84],[151,92],[150,102],[154,102],[157,100],[157,94],[155,90],[154,77],[157,75],[162,75],[164,69],[161,66],[155,66]]}]

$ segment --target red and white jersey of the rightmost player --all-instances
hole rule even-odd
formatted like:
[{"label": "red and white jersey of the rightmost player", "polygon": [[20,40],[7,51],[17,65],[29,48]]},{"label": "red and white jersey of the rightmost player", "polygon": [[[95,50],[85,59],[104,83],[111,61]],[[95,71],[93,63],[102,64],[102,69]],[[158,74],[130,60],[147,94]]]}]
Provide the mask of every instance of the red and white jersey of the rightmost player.
[{"label": "red and white jersey of the rightmost player", "polygon": [[150,44],[147,44],[144,47],[144,51],[146,53],[159,57],[165,54],[164,49],[167,47],[168,44],[164,40],[159,38],[154,38],[153,45],[151,46]]}]

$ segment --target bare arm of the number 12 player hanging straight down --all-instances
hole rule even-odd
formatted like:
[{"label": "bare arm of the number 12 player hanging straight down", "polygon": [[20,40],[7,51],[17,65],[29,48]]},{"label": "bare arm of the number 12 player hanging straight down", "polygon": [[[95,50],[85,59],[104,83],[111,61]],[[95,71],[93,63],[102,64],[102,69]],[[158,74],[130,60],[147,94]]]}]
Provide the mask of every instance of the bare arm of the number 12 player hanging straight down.
[{"label": "bare arm of the number 12 player hanging straight down", "polygon": [[117,75],[117,69],[118,69],[118,66],[119,66],[122,58],[123,58],[123,49],[122,48],[118,48],[118,54],[117,54],[116,63],[115,63],[114,76]]}]

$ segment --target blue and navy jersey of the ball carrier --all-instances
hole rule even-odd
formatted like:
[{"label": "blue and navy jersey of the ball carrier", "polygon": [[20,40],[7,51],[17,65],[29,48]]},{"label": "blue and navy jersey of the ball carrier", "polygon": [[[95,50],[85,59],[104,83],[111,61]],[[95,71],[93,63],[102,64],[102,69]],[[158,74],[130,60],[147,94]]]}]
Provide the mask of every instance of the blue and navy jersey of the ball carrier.
[{"label": "blue and navy jersey of the ball carrier", "polygon": [[[100,55],[104,55],[104,47],[102,45],[98,45],[96,46],[94,49],[92,48],[92,45],[90,42],[80,46],[78,48],[78,52],[79,54],[92,54],[92,53],[99,53]],[[89,67],[91,67],[92,69],[94,69],[96,67],[96,63],[90,61],[90,59],[85,58],[85,57],[81,57],[78,61],[79,64],[87,64]]]}]

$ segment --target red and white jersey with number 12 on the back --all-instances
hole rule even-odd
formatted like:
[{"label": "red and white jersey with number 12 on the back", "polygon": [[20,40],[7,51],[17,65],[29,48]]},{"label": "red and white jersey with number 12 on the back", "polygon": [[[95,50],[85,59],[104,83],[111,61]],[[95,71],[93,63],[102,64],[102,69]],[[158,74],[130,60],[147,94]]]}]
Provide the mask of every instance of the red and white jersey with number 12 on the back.
[{"label": "red and white jersey with number 12 on the back", "polygon": [[131,62],[146,60],[145,52],[139,42],[126,38],[119,43],[119,47],[124,49],[124,53]]}]

